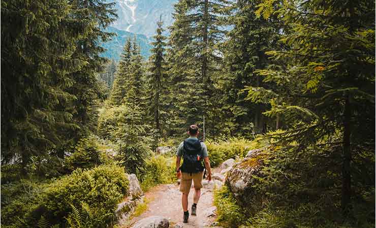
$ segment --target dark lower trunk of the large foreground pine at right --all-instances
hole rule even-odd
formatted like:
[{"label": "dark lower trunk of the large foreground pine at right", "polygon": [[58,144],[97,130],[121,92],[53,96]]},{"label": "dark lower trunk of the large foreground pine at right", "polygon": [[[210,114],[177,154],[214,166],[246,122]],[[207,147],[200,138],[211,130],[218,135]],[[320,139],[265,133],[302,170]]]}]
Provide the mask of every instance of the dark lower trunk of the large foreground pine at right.
[{"label": "dark lower trunk of the large foreground pine at right", "polygon": [[344,121],[343,121],[343,163],[342,163],[342,198],[341,208],[344,215],[348,214],[351,201],[351,104],[350,96],[346,96],[344,104]]}]

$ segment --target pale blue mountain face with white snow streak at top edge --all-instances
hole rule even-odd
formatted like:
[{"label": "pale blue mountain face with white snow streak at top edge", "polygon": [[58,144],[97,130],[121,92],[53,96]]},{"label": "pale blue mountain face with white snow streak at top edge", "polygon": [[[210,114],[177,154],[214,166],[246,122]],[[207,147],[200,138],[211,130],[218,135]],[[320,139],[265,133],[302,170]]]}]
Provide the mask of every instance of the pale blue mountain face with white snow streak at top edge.
[{"label": "pale blue mountain face with white snow streak at top edge", "polygon": [[112,24],[113,27],[143,34],[148,37],[154,35],[156,22],[162,16],[164,27],[173,22],[173,5],[178,0],[114,0],[116,3],[118,19]]}]

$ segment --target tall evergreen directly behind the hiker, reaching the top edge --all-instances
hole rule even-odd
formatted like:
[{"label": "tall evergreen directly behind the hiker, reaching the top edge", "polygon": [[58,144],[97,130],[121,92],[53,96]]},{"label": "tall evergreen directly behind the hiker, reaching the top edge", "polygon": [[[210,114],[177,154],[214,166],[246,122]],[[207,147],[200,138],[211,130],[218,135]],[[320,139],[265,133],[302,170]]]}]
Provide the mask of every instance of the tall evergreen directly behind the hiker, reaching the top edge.
[{"label": "tall evergreen directly behind the hiker, reaching the top edge", "polygon": [[[202,122],[213,110],[213,73],[221,54],[217,44],[223,40],[223,15],[227,1],[185,1],[175,4],[170,27],[169,72],[174,84],[173,104],[180,110],[176,131],[186,124]],[[211,119],[211,118],[208,118]]]}]

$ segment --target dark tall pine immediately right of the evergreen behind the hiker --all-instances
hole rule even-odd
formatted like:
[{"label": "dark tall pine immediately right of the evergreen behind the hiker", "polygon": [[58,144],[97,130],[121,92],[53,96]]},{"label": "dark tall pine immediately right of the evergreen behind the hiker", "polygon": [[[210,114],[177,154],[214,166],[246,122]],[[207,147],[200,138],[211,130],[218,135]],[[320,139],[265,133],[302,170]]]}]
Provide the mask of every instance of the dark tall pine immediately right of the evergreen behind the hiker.
[{"label": "dark tall pine immediately right of the evergreen behind the hiker", "polygon": [[[253,122],[255,133],[266,132],[267,120],[262,112],[268,106],[261,101],[246,101],[246,92],[242,90],[246,86],[271,88],[272,85],[262,82],[254,71],[272,63],[265,52],[280,49],[277,41],[283,26],[275,16],[257,18],[255,11],[258,4],[260,1],[239,0],[233,4],[234,14],[228,19],[232,29],[222,45],[223,71],[216,77],[221,89],[220,113],[221,119],[225,120],[226,134],[249,132],[249,122]],[[269,125],[275,126],[271,122]]]}]

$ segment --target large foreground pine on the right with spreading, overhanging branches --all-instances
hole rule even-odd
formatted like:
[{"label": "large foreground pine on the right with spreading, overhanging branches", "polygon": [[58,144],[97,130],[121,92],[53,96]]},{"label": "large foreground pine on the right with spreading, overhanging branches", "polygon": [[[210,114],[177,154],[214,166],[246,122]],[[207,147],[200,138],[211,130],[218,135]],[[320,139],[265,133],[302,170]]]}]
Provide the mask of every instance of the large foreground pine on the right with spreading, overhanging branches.
[{"label": "large foreground pine on the right with spreading, overhanging branches", "polygon": [[[272,9],[265,1],[257,13],[268,18]],[[358,185],[352,170],[363,162],[351,164],[361,153],[374,154],[375,22],[366,16],[374,13],[374,1],[284,1],[275,14],[291,26],[291,34],[281,39],[291,50],[267,52],[278,61],[258,71],[278,86],[249,88],[248,94],[252,100],[273,97],[266,114],[284,116],[289,127],[271,134],[278,142],[313,145],[338,157],[345,215],[351,211],[352,194],[362,189],[352,188]],[[337,151],[342,154],[335,156]]]}]

